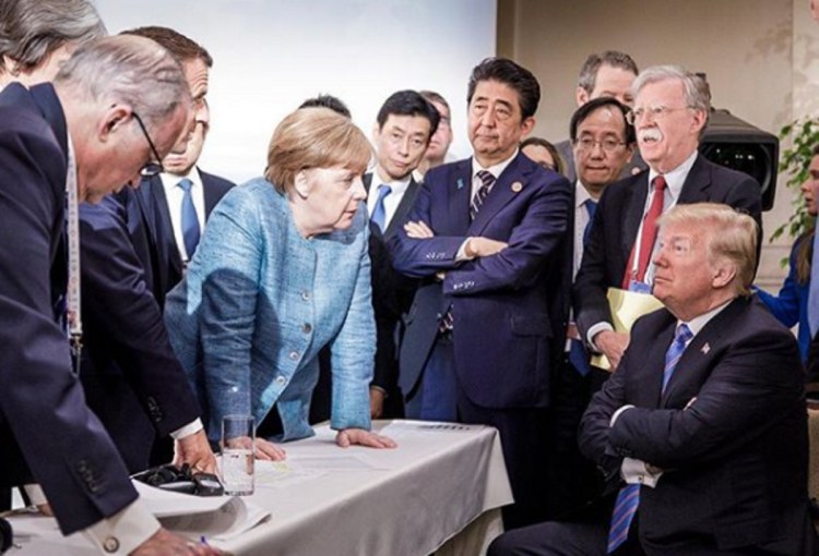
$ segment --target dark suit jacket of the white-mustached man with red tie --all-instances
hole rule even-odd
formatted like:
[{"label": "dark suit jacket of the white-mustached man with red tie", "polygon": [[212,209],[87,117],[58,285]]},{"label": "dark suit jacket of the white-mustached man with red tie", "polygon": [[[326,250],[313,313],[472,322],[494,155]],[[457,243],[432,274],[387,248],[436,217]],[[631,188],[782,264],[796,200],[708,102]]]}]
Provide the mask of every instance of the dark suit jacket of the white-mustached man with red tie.
[{"label": "dark suit jacket of the white-mustached man with red tie", "polygon": [[[622,286],[648,194],[648,171],[615,182],[603,191],[573,290],[574,319],[584,340],[593,325],[612,323],[606,290]],[[678,204],[705,201],[743,209],[762,229],[759,183],[746,173],[728,170],[697,155]]]}]

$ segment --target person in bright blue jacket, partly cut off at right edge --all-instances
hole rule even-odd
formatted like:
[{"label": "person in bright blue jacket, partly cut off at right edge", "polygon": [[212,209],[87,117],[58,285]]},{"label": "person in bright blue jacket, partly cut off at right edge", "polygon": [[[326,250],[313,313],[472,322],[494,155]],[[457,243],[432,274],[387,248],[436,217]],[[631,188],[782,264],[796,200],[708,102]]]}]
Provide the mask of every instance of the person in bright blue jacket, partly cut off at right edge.
[{"label": "person in bright blue jacket, partly cut off at right edge", "polygon": [[[814,158],[810,160],[808,172],[809,177],[800,189],[808,214],[815,217],[817,215],[817,188],[819,188],[819,145],[814,147]],[[768,305],[771,313],[782,324],[787,327],[799,324],[798,340],[803,362],[808,359],[811,338],[808,324],[808,292],[810,291],[810,263],[814,258],[814,233],[815,230],[808,230],[794,242],[787,278],[778,295],[764,290],[756,290],[759,299]]]}]

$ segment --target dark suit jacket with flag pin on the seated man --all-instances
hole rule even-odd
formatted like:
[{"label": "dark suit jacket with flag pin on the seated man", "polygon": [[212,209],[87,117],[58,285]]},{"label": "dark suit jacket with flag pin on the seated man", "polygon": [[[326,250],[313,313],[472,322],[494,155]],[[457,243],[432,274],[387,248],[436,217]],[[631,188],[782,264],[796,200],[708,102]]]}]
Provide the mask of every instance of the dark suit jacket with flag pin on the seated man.
[{"label": "dark suit jacket with flag pin on the seated man", "polygon": [[[638,321],[583,416],[581,450],[612,489],[625,456],[667,470],[640,493],[639,536],[650,556],[814,554],[793,335],[758,300],[736,299],[691,340],[661,395],[676,324],[666,310]],[[625,404],[636,408],[609,427]]]}]

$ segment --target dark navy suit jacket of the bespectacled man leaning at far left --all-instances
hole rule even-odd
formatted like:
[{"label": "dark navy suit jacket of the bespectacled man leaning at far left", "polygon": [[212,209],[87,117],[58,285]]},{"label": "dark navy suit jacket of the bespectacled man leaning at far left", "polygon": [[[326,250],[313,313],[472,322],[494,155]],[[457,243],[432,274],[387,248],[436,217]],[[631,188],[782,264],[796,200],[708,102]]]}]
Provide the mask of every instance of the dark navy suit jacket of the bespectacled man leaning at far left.
[{"label": "dark navy suit jacket of the bespectacled man leaning at far left", "polygon": [[68,135],[50,85],[0,93],[0,483],[26,462],[64,534],[136,498],[117,449],[88,410],[55,322],[64,292]]}]

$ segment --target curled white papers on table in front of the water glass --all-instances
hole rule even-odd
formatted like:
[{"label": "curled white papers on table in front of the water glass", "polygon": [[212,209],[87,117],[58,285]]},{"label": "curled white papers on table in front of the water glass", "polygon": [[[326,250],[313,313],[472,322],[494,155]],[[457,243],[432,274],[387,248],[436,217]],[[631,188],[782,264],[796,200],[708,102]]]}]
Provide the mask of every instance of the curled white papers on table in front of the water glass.
[{"label": "curled white papers on table in front of the water glass", "polygon": [[236,496],[192,496],[133,481],[149,511],[167,529],[199,539],[227,540],[249,531],[270,512]]}]

